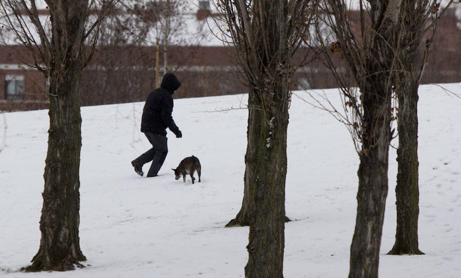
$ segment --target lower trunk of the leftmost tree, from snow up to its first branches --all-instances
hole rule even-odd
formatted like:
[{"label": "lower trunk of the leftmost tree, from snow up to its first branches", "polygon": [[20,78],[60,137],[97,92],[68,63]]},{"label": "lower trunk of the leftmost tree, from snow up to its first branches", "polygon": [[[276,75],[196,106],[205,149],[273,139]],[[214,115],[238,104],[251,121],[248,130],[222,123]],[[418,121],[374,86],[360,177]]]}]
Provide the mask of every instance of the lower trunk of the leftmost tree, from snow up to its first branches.
[{"label": "lower trunk of the leftmost tree, from snow up to its first branches", "polygon": [[51,87],[58,96],[50,98],[50,128],[46,158],[45,189],[40,219],[40,249],[27,271],[65,271],[86,258],[80,250],[80,116],[81,65],[67,69],[67,74]]}]

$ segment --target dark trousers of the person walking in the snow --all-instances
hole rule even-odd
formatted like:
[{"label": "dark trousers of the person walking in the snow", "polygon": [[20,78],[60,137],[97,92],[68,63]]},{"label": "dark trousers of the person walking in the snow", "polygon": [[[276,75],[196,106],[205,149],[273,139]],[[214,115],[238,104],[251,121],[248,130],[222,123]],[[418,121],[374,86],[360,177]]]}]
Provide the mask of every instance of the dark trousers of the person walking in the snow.
[{"label": "dark trousers of the person walking in the snow", "polygon": [[141,166],[152,161],[147,176],[154,177],[159,173],[163,162],[165,162],[166,154],[168,153],[168,146],[166,144],[168,139],[165,135],[155,133],[145,132],[144,135],[146,135],[150,144],[152,144],[152,149],[146,151],[136,159]]}]

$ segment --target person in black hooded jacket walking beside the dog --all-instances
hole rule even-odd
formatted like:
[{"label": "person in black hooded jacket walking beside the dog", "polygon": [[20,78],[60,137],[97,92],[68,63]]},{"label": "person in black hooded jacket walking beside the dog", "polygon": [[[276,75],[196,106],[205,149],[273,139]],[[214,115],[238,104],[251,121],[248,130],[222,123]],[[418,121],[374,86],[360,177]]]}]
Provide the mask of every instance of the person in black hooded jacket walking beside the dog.
[{"label": "person in black hooded jacket walking beside the dog", "polygon": [[152,161],[147,177],[155,177],[165,162],[168,153],[166,128],[168,127],[176,138],[183,134],[173,121],[173,93],[181,86],[181,82],[172,73],[166,73],[162,78],[160,87],[152,91],[147,97],[142,110],[141,132],[144,133],[152,144],[152,148],[131,162],[135,172],[140,176],[142,165]]}]

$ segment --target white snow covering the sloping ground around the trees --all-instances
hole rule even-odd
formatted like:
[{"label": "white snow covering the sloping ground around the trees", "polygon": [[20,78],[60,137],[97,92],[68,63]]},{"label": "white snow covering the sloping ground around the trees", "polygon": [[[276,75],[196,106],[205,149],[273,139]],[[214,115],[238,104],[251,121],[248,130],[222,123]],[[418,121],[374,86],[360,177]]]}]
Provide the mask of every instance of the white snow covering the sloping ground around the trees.
[{"label": "white snow covering the sloping ground around the trees", "polygon": [[[459,83],[443,86],[461,93]],[[339,100],[336,90],[325,92]],[[64,273],[18,272],[39,246],[49,120],[47,110],[3,114],[0,276],[244,277],[248,227],[224,226],[242,202],[248,111],[203,112],[237,108],[241,101],[246,95],[175,100],[183,138],[168,134],[160,176],[149,179],[130,165],[149,148],[139,132],[143,103],[83,107],[80,243],[88,261]],[[460,107],[461,99],[440,87],[420,87],[419,238],[426,255],[385,255],[396,228],[396,151],[390,150],[380,277],[461,277]],[[349,133],[293,96],[287,152],[286,212],[294,221],[285,225],[284,277],[346,277],[359,164]],[[190,155],[202,165],[202,182],[195,185],[190,178],[174,180],[171,170]]]}]

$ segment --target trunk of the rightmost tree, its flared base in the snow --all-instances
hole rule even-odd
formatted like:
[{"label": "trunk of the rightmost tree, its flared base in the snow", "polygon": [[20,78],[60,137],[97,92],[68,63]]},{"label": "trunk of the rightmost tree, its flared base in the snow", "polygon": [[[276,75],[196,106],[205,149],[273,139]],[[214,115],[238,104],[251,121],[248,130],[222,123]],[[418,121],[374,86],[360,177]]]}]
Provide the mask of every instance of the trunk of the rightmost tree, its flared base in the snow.
[{"label": "trunk of the rightmost tree, its flared base in the snow", "polygon": [[[418,40],[419,41],[419,40]],[[399,112],[397,129],[397,228],[396,242],[389,255],[422,255],[418,247],[419,184],[418,184],[418,86],[417,51],[408,51],[402,58],[406,67],[398,87]]]}]

